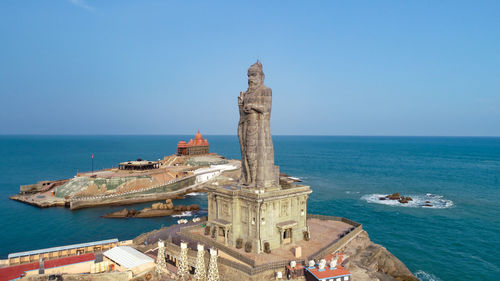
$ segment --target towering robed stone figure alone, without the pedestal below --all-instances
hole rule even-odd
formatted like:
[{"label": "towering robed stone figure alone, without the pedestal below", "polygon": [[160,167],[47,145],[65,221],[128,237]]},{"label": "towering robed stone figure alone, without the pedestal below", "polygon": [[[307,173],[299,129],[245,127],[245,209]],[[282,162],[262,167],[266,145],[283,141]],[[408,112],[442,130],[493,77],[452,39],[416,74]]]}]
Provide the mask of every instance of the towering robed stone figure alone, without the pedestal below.
[{"label": "towering robed stone figure alone, without the pedestal below", "polygon": [[240,184],[248,188],[277,185],[271,138],[272,91],[264,85],[262,64],[257,61],[248,69],[248,90],[240,92],[238,138],[241,148]]}]

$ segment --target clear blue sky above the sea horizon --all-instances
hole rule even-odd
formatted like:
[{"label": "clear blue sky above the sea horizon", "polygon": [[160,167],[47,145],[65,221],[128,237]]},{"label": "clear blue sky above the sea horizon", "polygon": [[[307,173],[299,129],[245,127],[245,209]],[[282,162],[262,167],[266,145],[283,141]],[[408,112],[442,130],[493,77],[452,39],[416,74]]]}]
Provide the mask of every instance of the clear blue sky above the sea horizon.
[{"label": "clear blue sky above the sea horizon", "polygon": [[[235,3],[238,2],[238,3]],[[500,1],[0,2],[0,134],[500,136]]]}]

